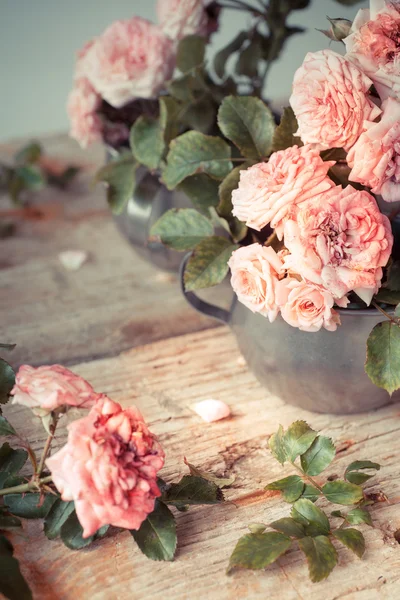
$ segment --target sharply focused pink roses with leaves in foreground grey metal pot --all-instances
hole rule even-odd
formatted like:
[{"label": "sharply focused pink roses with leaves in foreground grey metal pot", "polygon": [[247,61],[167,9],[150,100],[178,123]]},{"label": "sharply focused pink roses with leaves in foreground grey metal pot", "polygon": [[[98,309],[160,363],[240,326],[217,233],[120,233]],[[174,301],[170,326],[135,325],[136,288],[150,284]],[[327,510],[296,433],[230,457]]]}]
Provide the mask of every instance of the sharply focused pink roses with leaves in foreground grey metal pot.
[{"label": "sharply focused pink roses with leaves in foreground grey metal pot", "polygon": [[[172,189],[194,176],[215,197],[208,218],[170,211],[152,235],[191,251],[187,299],[231,325],[271,392],[350,413],[400,387],[400,4],[373,1],[353,24],[331,23],[346,54],[307,54],[277,127],[259,98],[232,95],[218,111],[226,141],[172,141],[163,181]],[[229,269],[230,312],[195,296]]]}]

